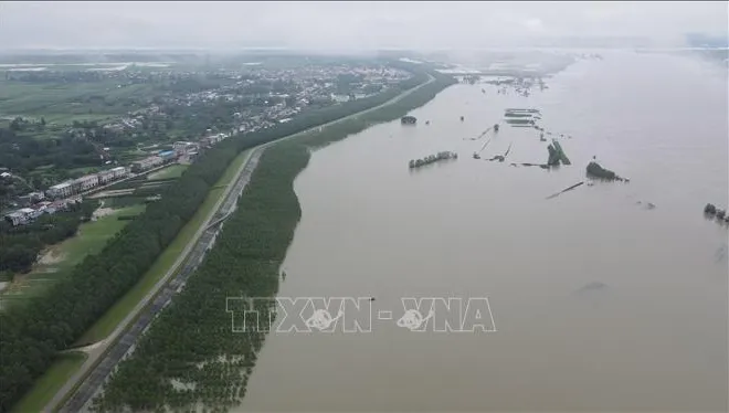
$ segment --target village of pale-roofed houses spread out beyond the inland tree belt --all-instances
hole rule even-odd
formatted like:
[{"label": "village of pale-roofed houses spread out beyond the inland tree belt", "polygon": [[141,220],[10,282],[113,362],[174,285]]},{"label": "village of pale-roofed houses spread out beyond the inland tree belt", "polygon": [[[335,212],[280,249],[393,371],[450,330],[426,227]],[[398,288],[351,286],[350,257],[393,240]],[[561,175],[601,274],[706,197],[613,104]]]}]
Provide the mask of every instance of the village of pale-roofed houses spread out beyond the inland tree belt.
[{"label": "village of pale-roofed houses spread out beyond the inland tree belt", "polygon": [[[92,72],[93,80],[108,76],[119,82],[118,88],[151,82],[154,80],[173,80],[172,85],[194,83],[200,78],[197,72],[172,72],[171,70],[154,70],[145,73],[134,71]],[[11,76],[31,76],[35,82],[43,76],[68,76],[54,72],[13,73]],[[196,84],[202,91],[176,93],[166,92],[148,97],[145,107],[131,110],[103,125],[76,123],[65,134],[74,139],[85,139],[98,148],[103,162],[102,170],[66,179],[49,186],[45,190],[33,190],[14,197],[3,212],[3,218],[13,226],[28,224],[43,214],[53,214],[81,202],[84,195],[93,194],[125,179],[161,169],[170,163],[194,162],[201,151],[211,148],[221,140],[235,134],[254,133],[287,123],[297,114],[336,105],[351,99],[359,99],[380,93],[398,85],[411,75],[387,65],[330,64],[306,65],[295,68],[270,68],[258,64],[244,65],[243,70],[218,71],[208,73],[207,78],[218,81],[223,86],[207,88]],[[21,77],[22,78],[22,77]],[[191,88],[194,88],[191,87]],[[211,116],[204,118],[208,112],[220,113],[220,108],[229,109],[225,118]],[[139,139],[149,124],[171,121],[183,123],[189,117],[198,124],[208,123],[208,128],[194,134],[187,134],[187,139],[170,142],[170,136],[155,136],[147,146],[146,156],[128,162],[119,162],[119,149],[101,147],[101,136],[130,137]],[[180,120],[181,118],[181,120]],[[156,126],[152,126],[155,128]],[[146,136],[146,135],[144,135]],[[170,145],[171,144],[171,145]],[[141,144],[137,144],[139,147]],[[3,169],[0,181],[12,182],[13,179],[24,180],[12,170]],[[34,189],[34,188],[33,188]]]}]

